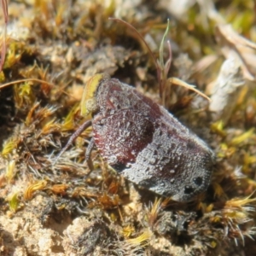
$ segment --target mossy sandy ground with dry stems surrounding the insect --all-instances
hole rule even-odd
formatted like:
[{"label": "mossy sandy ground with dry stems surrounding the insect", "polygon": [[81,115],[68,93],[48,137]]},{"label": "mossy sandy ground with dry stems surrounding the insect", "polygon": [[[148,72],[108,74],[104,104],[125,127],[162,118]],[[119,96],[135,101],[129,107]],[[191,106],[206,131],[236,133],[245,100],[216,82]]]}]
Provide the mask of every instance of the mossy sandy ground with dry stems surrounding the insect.
[{"label": "mossy sandy ground with dry stems surrounding the insect", "polygon": [[[9,1],[0,255],[256,255],[255,10],[253,0]],[[80,102],[96,73],[131,84],[212,148],[206,191],[156,195],[96,148],[90,172],[91,127],[56,160],[91,118]]]}]

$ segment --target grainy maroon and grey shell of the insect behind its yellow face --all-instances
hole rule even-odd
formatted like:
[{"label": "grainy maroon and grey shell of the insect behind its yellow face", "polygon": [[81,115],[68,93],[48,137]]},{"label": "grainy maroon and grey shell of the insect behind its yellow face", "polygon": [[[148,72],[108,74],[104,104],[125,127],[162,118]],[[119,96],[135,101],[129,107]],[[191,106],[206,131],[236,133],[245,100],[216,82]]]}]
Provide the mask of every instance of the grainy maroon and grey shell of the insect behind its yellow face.
[{"label": "grainy maroon and grey shell of the insect behind its yellow face", "polygon": [[165,108],[118,79],[102,76],[92,127],[104,160],[133,183],[190,201],[210,183],[213,153]]}]

